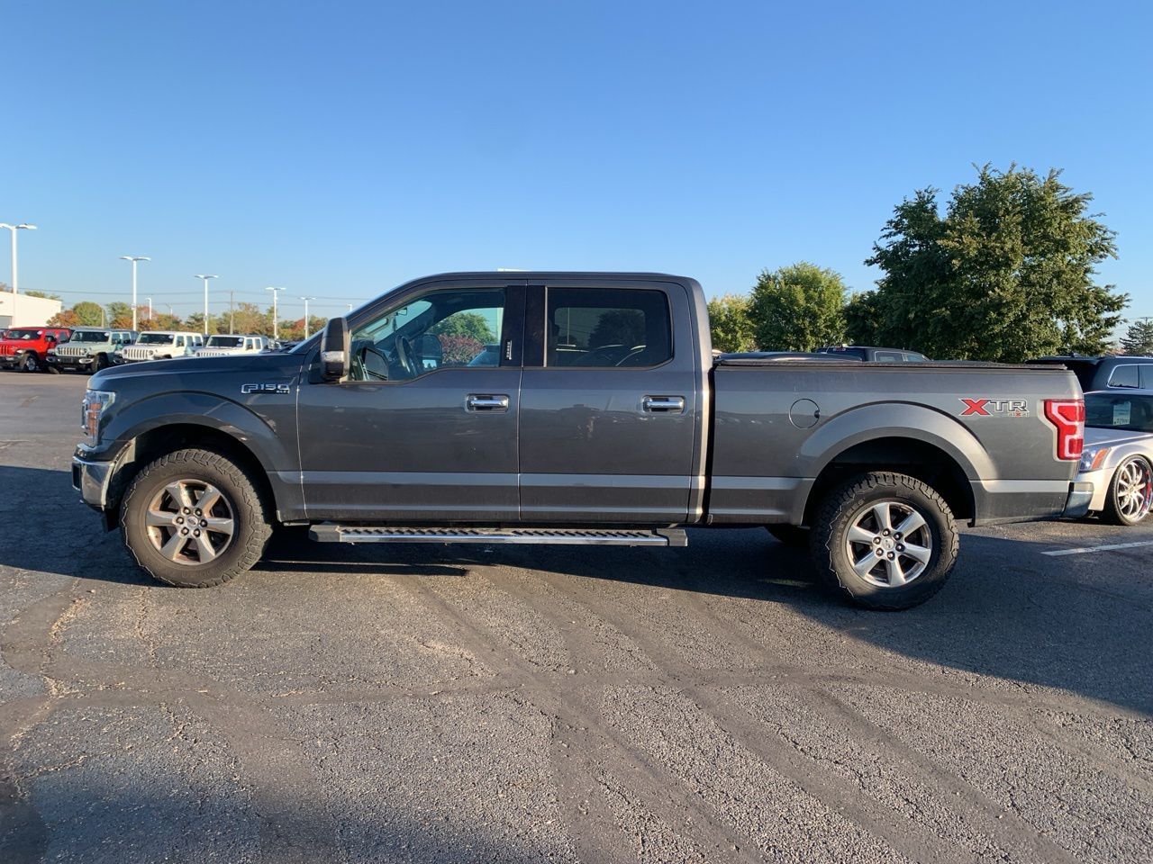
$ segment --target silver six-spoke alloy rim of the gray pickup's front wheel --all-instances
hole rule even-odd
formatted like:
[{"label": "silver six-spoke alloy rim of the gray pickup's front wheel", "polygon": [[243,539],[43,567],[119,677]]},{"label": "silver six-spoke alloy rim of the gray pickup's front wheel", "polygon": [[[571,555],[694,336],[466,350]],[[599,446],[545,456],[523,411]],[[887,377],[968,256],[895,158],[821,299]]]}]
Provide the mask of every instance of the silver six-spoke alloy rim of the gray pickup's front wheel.
[{"label": "silver six-spoke alloy rim of the gray pickup's front wheel", "polygon": [[174,480],[144,514],[152,546],[178,564],[204,564],[220,555],[235,531],[232,502],[211,483]]}]

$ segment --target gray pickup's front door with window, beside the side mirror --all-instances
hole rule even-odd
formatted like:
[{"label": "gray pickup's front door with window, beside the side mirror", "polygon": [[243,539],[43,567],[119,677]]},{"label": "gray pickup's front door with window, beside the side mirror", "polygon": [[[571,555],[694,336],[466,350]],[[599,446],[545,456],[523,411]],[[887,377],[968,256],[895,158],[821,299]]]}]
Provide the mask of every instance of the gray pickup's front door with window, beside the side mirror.
[{"label": "gray pickup's front door with window, beside the side mirror", "polygon": [[349,323],[349,379],[300,388],[309,518],[517,520],[523,298],[416,288]]}]

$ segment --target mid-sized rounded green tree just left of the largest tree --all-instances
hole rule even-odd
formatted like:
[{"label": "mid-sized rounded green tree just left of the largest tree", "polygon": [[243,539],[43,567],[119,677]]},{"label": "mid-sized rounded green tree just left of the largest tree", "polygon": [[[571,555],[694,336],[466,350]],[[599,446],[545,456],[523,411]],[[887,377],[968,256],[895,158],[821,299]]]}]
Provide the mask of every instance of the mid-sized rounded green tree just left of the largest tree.
[{"label": "mid-sized rounded green tree just left of the largest tree", "polygon": [[812,351],[845,336],[845,283],[839,273],[798,262],[761,271],[751,316],[762,350]]}]

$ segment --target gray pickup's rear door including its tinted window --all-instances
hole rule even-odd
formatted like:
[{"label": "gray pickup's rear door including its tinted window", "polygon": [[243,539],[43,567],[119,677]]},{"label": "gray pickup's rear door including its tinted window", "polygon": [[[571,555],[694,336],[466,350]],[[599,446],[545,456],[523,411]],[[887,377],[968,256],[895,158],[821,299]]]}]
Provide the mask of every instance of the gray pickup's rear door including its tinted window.
[{"label": "gray pickup's rear door including its tinted window", "polygon": [[522,521],[689,521],[703,426],[692,320],[676,283],[529,287]]}]

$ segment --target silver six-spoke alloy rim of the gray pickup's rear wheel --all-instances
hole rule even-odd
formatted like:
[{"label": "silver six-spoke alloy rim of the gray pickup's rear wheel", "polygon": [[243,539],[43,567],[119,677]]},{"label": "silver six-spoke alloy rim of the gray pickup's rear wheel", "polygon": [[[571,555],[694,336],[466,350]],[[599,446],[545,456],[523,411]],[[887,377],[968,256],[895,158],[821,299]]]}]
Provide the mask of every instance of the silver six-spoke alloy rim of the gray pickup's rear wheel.
[{"label": "silver six-spoke alloy rim of the gray pickup's rear wheel", "polygon": [[899,588],[929,566],[933,533],[925,516],[904,501],[876,501],[849,521],[845,552],[866,582]]}]

